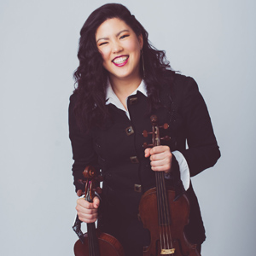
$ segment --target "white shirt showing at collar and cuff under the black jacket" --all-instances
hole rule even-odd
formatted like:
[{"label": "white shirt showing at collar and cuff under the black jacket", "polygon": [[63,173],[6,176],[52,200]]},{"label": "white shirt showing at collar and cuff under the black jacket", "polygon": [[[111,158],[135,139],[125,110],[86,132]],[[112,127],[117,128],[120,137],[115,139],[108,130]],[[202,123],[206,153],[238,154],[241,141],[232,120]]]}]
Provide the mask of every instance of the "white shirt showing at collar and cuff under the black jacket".
[{"label": "white shirt showing at collar and cuff under the black jacket", "polygon": [[[139,84],[139,86],[137,87],[137,90],[134,90],[130,96],[137,94],[137,91],[140,91],[141,93],[143,93],[144,96],[148,96],[148,92],[147,92],[147,88],[144,80],[142,80],[141,84]],[[126,98],[126,106],[127,106],[127,100],[128,100],[128,97]],[[130,113],[128,109],[125,109],[122,102],[120,102],[118,96],[116,96],[116,94],[113,92],[113,89],[109,80],[108,80],[107,91],[106,91],[106,104],[107,105],[113,104],[116,108],[119,108],[125,111],[128,119],[130,119]],[[189,166],[188,166],[187,160],[184,158],[183,154],[177,150],[173,151],[172,154],[174,154],[178,162],[180,178],[183,182],[183,187],[185,190],[187,190],[189,189],[189,183],[190,183]]]}]

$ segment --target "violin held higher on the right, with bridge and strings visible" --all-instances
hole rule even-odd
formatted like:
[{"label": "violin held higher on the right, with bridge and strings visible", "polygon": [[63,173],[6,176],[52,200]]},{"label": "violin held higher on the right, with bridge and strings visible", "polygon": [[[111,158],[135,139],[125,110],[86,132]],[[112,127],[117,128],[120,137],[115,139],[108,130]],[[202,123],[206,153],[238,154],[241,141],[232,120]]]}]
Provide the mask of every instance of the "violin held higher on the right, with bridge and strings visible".
[{"label": "violin held higher on the right, with bridge and strings visible", "polygon": [[[152,134],[152,144],[144,143],[143,147],[160,145],[160,128],[168,125],[157,125],[157,117],[150,117],[152,131],[143,131],[143,136]],[[143,256],[201,256],[196,244],[187,240],[183,230],[189,224],[189,200],[186,195],[176,197],[175,189],[166,188],[165,172],[155,172],[156,187],[146,191],[139,205],[139,215],[145,229],[150,231],[151,242],[143,248]]]}]

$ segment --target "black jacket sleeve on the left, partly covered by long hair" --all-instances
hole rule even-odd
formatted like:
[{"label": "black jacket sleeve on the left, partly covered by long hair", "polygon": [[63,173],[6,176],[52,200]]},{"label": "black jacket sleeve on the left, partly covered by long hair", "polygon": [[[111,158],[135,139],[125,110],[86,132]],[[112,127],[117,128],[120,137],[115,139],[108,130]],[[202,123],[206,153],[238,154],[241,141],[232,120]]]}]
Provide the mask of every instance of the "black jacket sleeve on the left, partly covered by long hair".
[{"label": "black jacket sleeve on the left, partly covered by long hair", "polygon": [[96,154],[93,150],[93,140],[89,132],[81,131],[77,124],[74,114],[74,106],[76,95],[70,96],[68,108],[68,125],[69,138],[73,149],[73,184],[76,191],[82,189],[84,185],[78,182],[79,179],[84,179],[83,172],[86,166],[92,165],[96,167]]}]

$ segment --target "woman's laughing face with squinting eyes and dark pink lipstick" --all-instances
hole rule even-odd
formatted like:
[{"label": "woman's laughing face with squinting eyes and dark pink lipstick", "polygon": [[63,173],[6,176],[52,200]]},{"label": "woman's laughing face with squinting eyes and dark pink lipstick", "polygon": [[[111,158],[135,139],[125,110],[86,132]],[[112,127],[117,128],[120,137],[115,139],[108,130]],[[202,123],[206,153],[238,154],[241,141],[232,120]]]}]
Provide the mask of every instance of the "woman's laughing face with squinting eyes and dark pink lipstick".
[{"label": "woman's laughing face with squinting eyes and dark pink lipstick", "polygon": [[143,36],[137,37],[125,21],[117,18],[105,20],[96,30],[96,45],[110,79],[140,78]]}]

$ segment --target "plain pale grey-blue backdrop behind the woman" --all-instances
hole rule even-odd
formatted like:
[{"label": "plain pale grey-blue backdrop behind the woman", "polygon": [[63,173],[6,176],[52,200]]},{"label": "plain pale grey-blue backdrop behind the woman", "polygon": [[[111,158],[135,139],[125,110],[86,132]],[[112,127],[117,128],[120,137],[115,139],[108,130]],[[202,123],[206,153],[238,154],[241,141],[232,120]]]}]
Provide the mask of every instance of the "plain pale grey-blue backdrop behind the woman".
[{"label": "plain pale grey-blue backdrop behind the woman", "polygon": [[[79,30],[103,3],[0,3],[1,255],[73,255],[68,97]],[[253,255],[255,1],[119,3],[175,70],[195,78],[211,113],[222,158],[193,177],[207,229],[203,255]]]}]

